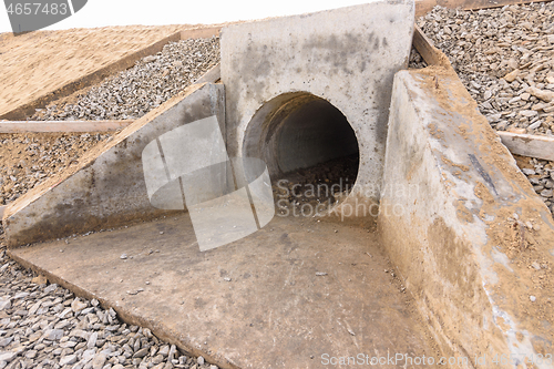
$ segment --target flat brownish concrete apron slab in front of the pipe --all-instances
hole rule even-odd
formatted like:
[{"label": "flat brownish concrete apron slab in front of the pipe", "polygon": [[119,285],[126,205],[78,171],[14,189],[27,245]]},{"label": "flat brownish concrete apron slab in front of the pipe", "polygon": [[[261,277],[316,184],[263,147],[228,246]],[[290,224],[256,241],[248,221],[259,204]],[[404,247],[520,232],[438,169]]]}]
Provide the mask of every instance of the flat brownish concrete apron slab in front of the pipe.
[{"label": "flat brownish concrete apron slab in front of the pipe", "polygon": [[438,355],[409,294],[384,271],[392,266],[376,235],[361,228],[276,217],[201,253],[183,214],[68,242],[9,254],[222,368],[321,368],[326,353],[327,363]]}]

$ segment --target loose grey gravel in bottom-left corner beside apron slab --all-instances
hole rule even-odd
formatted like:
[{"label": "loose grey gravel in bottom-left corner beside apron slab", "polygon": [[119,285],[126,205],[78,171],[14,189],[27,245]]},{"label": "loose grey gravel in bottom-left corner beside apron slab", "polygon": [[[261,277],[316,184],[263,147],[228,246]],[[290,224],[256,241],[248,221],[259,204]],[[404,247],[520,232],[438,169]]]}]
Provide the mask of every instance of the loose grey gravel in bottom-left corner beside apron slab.
[{"label": "loose grey gravel in bottom-left corner beside apron slab", "polygon": [[0,369],[217,369],[121,322],[95,299],[43,283],[0,248]]}]

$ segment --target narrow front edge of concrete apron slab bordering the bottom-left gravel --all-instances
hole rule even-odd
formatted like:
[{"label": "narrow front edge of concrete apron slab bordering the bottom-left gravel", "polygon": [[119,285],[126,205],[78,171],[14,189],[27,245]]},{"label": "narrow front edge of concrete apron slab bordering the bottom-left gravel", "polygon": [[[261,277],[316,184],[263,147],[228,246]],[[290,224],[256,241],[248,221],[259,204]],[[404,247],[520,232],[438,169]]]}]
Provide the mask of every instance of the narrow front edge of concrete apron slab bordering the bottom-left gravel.
[{"label": "narrow front edge of concrete apron slab bordering the bottom-left gravel", "polygon": [[[214,363],[218,366],[220,369],[240,369],[236,365],[229,362],[227,359],[219,355],[213,355],[209,352],[205,352],[202,350],[198,350],[191,345],[185,338],[184,335],[179,335],[178,332],[172,332],[164,324],[163,321],[155,321],[151,319],[144,319],[140,315],[133,314],[132,310],[126,310],[120,306],[115,301],[109,300],[109,299],[103,299],[101,297],[98,297],[93,293],[83,289],[79,287],[78,285],[74,285],[63,278],[60,278],[55,276],[54,274],[49,273],[48,270],[42,269],[41,267],[27,262],[25,259],[19,257],[14,253],[11,253],[10,249],[7,250],[7,255],[16,260],[18,264],[23,266],[25,269],[33,270],[34,273],[42,275],[47,277],[48,281],[50,284],[57,284],[65,289],[69,289],[72,291],[75,296],[81,297],[81,298],[86,298],[86,299],[98,299],[101,304],[101,306],[104,309],[110,309],[113,308],[115,312],[117,312],[117,318],[122,320],[123,322],[127,325],[134,325],[134,326],[140,326],[143,328],[148,328],[154,336],[156,336],[158,339],[168,342],[170,345],[175,345],[178,347],[182,351],[192,355],[192,356],[202,356],[207,362]],[[176,339],[178,337],[178,339]]]}]

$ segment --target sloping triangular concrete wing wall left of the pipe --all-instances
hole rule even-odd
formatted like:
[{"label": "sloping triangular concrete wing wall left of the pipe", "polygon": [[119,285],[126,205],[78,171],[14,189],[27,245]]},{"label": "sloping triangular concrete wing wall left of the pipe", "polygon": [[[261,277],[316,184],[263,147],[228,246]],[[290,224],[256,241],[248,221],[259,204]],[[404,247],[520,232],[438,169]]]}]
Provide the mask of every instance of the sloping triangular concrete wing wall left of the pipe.
[{"label": "sloping triangular concrete wing wall left of the pipe", "polygon": [[220,84],[192,85],[88,153],[74,168],[8,205],[3,216],[8,245],[112,228],[166,213],[148,201],[142,151],[160,135],[201,119],[216,115],[223,126],[224,98]]}]

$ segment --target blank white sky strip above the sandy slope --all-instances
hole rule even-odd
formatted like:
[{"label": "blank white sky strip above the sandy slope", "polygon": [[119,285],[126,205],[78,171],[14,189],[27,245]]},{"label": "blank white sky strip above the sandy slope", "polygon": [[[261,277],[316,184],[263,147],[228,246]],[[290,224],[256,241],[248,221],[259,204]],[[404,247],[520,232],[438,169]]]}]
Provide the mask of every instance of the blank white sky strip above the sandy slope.
[{"label": "blank white sky strip above the sandy slope", "polygon": [[[236,20],[291,16],[341,8],[372,0],[89,0],[72,17],[45,30],[104,25],[158,25],[220,23]],[[32,2],[32,0],[29,0]],[[3,1],[0,3],[0,32],[11,32]]]}]

